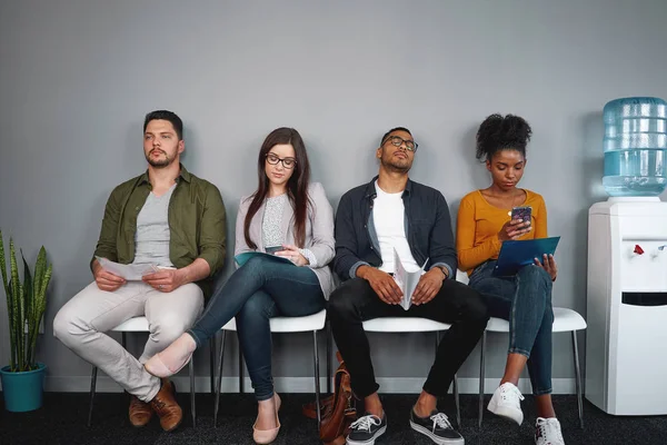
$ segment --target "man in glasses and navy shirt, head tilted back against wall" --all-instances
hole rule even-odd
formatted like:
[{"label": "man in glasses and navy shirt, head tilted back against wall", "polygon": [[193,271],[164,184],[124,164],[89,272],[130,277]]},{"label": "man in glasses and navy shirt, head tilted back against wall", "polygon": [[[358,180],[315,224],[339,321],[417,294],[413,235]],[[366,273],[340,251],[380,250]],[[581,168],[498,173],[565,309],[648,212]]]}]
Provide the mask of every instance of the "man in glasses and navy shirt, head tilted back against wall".
[{"label": "man in glasses and navy shirt, head tilted back against wall", "polygon": [[[447,416],[438,412],[437,397],[447,394],[481,337],[488,315],[479,294],[456,281],[457,256],[445,197],[408,178],[417,148],[407,128],[389,130],[376,152],[379,175],[345,194],[338,205],[334,268],[344,283],[331,294],[329,315],[352,390],[366,409],[352,424],[349,445],[372,445],[387,428],[362,327],[364,320],[379,317],[424,317],[451,324],[410,409],[410,426],[436,444],[464,444]],[[404,299],[395,273],[421,268],[426,271]]]}]

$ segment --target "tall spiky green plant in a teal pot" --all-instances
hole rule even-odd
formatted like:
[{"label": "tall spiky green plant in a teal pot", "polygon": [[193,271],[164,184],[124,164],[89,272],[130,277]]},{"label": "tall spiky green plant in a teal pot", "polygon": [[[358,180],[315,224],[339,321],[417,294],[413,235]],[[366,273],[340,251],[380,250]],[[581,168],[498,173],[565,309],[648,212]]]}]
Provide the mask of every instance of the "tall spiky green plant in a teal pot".
[{"label": "tall spiky green plant in a teal pot", "polygon": [[9,240],[9,275],[4,260],[4,246],[0,230],[0,269],[7,295],[9,343],[11,362],[0,369],[4,407],[11,412],[33,411],[42,404],[43,382],[47,366],[34,360],[39,326],[47,308],[47,288],[52,265],[47,265],[43,246],[37,256],[34,275],[21,251],[23,283],[19,278],[19,265],[13,240]]}]

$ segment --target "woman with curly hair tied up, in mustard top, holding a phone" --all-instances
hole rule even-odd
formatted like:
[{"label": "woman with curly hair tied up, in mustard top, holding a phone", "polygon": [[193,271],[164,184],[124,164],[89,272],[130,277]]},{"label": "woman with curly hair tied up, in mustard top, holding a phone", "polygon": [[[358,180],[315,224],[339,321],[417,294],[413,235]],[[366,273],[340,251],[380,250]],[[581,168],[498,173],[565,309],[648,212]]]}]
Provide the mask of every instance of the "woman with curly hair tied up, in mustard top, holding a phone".
[{"label": "woman with curly hair tied up, in mustard top, holding a phone", "polygon": [[[551,284],[558,274],[554,256],[535,258],[512,277],[492,276],[500,246],[509,239],[547,237],[547,207],[542,197],[518,188],[526,168],[531,129],[518,116],[491,115],[477,131],[477,159],[486,164],[492,182],[461,200],[457,221],[459,268],[470,287],[482,294],[492,317],[509,322],[505,375],[488,409],[521,424],[524,396],[517,385],[528,365],[537,405],[535,443],[564,444],[551,404]],[[530,220],[511,219],[515,207],[531,207]]]}]

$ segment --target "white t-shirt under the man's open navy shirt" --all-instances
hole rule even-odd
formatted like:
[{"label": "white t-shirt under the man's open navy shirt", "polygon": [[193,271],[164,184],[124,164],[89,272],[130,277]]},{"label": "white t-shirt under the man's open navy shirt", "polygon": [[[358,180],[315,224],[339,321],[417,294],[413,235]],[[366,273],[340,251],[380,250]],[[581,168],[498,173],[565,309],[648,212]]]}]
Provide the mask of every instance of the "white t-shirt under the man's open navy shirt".
[{"label": "white t-shirt under the man's open navy shirt", "polygon": [[402,191],[387,194],[378,186],[377,181],[375,186],[377,196],[372,205],[372,221],[380,243],[380,255],[382,257],[380,270],[394,274],[395,248],[407,271],[419,270],[406,239],[406,208],[401,198]]}]

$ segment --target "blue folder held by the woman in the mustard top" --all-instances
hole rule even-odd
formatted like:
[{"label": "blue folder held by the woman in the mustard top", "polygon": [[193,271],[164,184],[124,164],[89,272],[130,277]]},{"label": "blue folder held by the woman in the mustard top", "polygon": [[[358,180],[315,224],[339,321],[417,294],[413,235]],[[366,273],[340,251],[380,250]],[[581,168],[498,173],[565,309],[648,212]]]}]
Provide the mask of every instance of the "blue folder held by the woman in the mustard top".
[{"label": "blue folder held by the woman in the mustard top", "polygon": [[535,264],[535,258],[541,260],[545,254],[554,255],[560,237],[504,241],[494,275],[497,277],[511,276],[521,267]]}]

